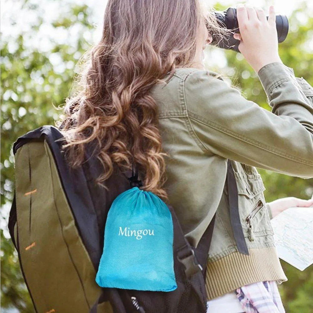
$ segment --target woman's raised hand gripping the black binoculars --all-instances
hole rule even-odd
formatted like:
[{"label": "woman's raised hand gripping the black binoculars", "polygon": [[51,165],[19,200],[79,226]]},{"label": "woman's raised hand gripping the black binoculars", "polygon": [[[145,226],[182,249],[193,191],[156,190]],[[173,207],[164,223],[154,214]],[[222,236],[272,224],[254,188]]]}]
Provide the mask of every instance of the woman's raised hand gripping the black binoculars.
[{"label": "woman's raised hand gripping the black binoculars", "polygon": [[240,34],[234,38],[240,40],[239,51],[258,73],[266,64],[282,63],[278,54],[278,38],[274,6],[269,7],[269,18],[264,10],[249,5],[236,7]]}]

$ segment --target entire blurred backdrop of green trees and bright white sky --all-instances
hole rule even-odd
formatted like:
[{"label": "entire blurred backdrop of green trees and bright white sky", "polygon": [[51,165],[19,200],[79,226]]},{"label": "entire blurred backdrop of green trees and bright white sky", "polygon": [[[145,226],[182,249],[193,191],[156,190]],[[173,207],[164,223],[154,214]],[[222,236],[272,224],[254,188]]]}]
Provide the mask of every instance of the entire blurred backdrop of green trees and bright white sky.
[{"label": "entire blurred backdrop of green trees and bright white sky", "polygon": [[[59,111],[54,106],[63,104],[69,95],[75,66],[85,50],[96,42],[92,35],[101,34],[102,21],[98,27],[93,22],[96,14],[102,18],[104,5],[101,4],[99,13],[95,1],[88,6],[86,1],[23,0],[6,1],[6,5],[9,2],[12,16],[7,16],[7,24],[4,28],[2,25],[1,31],[1,308],[3,312],[26,313],[34,312],[33,305],[7,228],[14,190],[12,145],[18,136],[45,124],[53,125],[58,119]],[[56,3],[58,10],[55,10]],[[268,9],[272,3],[263,2],[262,7]],[[214,4],[218,10],[229,6],[235,3]],[[17,10],[19,14],[13,14]],[[280,57],[294,69],[297,77],[303,76],[313,85],[312,7],[305,1],[296,1],[288,18],[290,31],[285,42],[279,45]],[[22,27],[15,27],[17,23]],[[208,69],[228,76],[247,99],[270,110],[256,73],[240,53],[208,47],[205,64]],[[289,196],[308,199],[312,195],[312,179],[262,169],[259,172],[266,187],[267,202]],[[288,281],[279,286],[286,312],[313,312],[313,266],[301,272],[281,262],[288,277]]]}]

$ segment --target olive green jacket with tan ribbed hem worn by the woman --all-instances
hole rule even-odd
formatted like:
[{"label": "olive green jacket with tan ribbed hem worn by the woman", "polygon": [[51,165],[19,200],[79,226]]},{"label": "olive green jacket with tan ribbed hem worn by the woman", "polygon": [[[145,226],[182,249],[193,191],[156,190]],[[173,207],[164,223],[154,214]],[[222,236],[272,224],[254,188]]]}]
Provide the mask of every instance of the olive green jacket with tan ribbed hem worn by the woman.
[{"label": "olive green jacket with tan ribbed hem worn by the woman", "polygon": [[[255,167],[313,177],[313,89],[281,63],[258,77],[272,112],[245,99],[212,71],[176,69],[151,96],[159,108],[167,189],[182,229],[197,246],[216,220],[207,266],[213,299],[256,281],[287,280],[277,256],[264,184]],[[236,247],[224,187],[227,159],[238,187],[239,214],[249,255]]]}]

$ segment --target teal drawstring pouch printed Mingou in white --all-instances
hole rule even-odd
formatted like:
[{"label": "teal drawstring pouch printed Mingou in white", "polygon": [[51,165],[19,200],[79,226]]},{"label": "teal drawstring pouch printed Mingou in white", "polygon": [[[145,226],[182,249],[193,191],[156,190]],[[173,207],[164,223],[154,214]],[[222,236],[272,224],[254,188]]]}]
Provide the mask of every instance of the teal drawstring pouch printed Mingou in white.
[{"label": "teal drawstring pouch printed Mingou in white", "polygon": [[153,192],[132,187],[113,201],[96,282],[101,287],[135,290],[177,288],[172,215]]}]

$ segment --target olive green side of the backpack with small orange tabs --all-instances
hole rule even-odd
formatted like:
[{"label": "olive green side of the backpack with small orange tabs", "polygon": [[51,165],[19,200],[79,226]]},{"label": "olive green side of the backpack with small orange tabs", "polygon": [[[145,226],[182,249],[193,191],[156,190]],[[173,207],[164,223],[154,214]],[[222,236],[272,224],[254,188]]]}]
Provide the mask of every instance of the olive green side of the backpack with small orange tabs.
[{"label": "olive green side of the backpack with small orange tabs", "polygon": [[[50,145],[56,145],[56,137],[56,129],[44,126],[14,143],[15,197],[9,230],[36,312],[86,313],[102,288],[69,205],[75,192],[71,198],[64,192],[53,153],[53,147],[58,148]],[[87,223],[90,217],[82,218],[92,227]],[[96,309],[113,312],[109,301]]]}]

